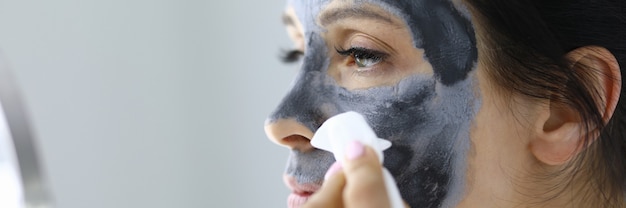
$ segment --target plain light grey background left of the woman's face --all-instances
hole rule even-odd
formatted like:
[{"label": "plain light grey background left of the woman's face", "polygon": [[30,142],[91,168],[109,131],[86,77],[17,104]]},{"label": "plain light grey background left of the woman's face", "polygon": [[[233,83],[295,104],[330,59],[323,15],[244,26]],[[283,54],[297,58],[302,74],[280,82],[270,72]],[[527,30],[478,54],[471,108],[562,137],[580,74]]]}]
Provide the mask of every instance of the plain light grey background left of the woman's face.
[{"label": "plain light grey background left of the woman's face", "polygon": [[285,207],[284,0],[0,0],[57,207]]}]

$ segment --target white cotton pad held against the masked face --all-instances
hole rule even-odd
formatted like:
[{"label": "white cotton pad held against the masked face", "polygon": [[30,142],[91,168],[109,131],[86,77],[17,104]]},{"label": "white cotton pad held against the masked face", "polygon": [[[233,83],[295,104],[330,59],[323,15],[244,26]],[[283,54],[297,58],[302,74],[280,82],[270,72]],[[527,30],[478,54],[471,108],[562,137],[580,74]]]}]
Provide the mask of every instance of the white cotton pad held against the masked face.
[{"label": "white cotton pad held against the masked face", "polygon": [[[384,159],[383,150],[391,147],[391,142],[376,136],[374,130],[367,124],[365,117],[353,111],[342,113],[326,120],[313,135],[311,145],[315,148],[332,152],[335,160],[343,161],[345,159],[344,151],[348,144],[355,140],[372,147],[376,155],[378,155],[381,164]],[[391,207],[404,207],[396,182],[384,167],[383,177],[387,193],[389,193]]]}]

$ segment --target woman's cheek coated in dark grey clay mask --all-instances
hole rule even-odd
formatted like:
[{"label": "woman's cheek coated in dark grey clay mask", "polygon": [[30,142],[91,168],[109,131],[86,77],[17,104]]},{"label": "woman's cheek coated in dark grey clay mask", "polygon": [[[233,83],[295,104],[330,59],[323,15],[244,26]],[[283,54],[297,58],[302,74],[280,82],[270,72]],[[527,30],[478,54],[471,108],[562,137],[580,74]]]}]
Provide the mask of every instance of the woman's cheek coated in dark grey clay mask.
[{"label": "woman's cheek coated in dark grey clay mask", "polygon": [[385,166],[399,181],[404,198],[410,204],[440,204],[463,193],[470,129],[481,93],[473,75],[451,86],[421,81],[403,80],[397,89],[405,84],[398,91],[405,93],[396,93],[392,107],[375,110],[371,118],[377,133],[393,142],[385,152]]}]

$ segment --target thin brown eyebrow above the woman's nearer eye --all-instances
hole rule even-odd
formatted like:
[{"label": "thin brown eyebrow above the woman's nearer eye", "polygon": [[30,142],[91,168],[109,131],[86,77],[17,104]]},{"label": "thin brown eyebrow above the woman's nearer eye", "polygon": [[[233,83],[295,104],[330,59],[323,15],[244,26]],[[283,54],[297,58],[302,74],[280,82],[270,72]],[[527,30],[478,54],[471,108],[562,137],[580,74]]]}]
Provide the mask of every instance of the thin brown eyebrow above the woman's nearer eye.
[{"label": "thin brown eyebrow above the woman's nearer eye", "polygon": [[384,16],[376,11],[366,8],[341,8],[324,12],[320,15],[319,21],[321,26],[332,24],[336,21],[346,18],[367,18],[383,21],[389,24],[395,24],[391,18]]}]

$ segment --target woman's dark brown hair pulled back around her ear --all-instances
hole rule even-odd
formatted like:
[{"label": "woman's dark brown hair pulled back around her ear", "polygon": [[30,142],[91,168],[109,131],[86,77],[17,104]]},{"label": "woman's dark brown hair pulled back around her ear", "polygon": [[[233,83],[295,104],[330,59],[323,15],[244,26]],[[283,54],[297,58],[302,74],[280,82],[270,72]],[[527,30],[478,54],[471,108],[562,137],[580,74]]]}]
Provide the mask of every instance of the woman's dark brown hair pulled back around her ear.
[{"label": "woman's dark brown hair pulled back around her ear", "polygon": [[572,176],[591,176],[585,183],[597,189],[580,197],[599,197],[603,203],[599,206],[623,206],[619,203],[624,202],[626,190],[626,88],[622,87],[613,117],[604,122],[598,107],[602,101],[590,79],[597,71],[573,66],[565,55],[583,46],[604,47],[616,57],[626,77],[626,1],[466,2],[474,22],[480,23],[477,39],[484,45],[479,45],[479,54],[492,66],[487,73],[496,84],[507,92],[568,106],[585,122],[586,132],[600,132],[595,142],[597,134],[588,134],[582,142],[591,146],[568,169],[573,167],[568,172]]}]

